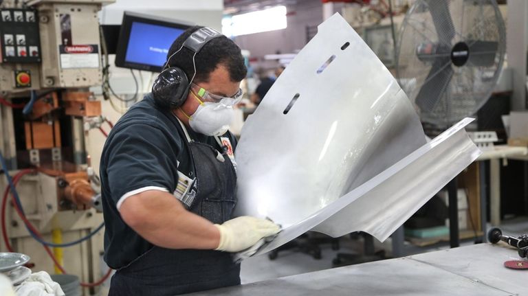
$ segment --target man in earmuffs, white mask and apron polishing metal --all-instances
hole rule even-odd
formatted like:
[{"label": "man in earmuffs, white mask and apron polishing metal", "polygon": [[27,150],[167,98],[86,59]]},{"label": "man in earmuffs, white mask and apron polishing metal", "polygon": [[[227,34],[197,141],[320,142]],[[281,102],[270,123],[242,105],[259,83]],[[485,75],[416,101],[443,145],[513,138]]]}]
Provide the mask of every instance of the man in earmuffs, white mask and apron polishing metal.
[{"label": "man in earmuffs, white mask and apron polishing metal", "polygon": [[200,30],[186,30],[167,55],[167,71],[177,67],[188,78],[185,85],[170,80],[190,87],[183,103],[145,95],[104,144],[104,260],[117,270],[109,295],[176,295],[240,284],[240,265],[230,252],[280,230],[269,220],[231,219],[236,143],[225,126],[246,69],[240,48],[225,36],[198,52],[184,47]]}]

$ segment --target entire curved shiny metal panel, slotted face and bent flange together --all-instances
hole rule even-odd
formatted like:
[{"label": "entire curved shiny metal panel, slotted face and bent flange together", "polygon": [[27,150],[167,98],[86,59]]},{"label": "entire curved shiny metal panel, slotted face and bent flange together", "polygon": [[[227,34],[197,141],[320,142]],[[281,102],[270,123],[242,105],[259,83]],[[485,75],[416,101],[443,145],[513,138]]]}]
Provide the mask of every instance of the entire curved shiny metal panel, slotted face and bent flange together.
[{"label": "entire curved shiny metal panel, slotted face and bent flange together", "polygon": [[391,73],[335,14],[243,126],[236,214],[283,231],[238,258],[311,229],[386,239],[480,154],[463,130],[471,121],[426,143]]}]

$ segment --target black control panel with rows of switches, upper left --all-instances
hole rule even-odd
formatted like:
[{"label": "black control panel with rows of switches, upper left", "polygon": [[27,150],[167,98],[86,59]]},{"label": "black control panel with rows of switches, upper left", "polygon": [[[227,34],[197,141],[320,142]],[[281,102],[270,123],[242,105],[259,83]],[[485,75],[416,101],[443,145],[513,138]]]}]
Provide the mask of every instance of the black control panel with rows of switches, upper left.
[{"label": "black control panel with rows of switches, upper left", "polygon": [[0,10],[1,62],[41,62],[38,12],[31,8]]}]

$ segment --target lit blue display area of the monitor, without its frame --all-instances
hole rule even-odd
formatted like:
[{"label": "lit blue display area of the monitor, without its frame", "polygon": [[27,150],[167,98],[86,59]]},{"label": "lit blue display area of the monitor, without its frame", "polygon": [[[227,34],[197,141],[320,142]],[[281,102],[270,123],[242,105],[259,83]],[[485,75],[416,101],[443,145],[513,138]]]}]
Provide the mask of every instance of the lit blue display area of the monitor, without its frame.
[{"label": "lit blue display area of the monitor, without its frame", "polygon": [[125,62],[162,67],[174,40],[184,30],[148,23],[132,23]]}]

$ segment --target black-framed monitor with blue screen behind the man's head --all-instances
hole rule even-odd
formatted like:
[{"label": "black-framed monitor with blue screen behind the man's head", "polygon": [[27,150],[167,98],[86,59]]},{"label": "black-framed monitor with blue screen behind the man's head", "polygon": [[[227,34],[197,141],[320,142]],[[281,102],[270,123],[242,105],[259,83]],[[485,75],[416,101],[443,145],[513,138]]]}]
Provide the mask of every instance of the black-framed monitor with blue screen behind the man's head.
[{"label": "black-framed monitor with blue screen behind the man's head", "polygon": [[137,12],[124,12],[115,65],[160,72],[170,45],[192,24]]}]

